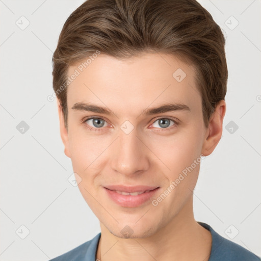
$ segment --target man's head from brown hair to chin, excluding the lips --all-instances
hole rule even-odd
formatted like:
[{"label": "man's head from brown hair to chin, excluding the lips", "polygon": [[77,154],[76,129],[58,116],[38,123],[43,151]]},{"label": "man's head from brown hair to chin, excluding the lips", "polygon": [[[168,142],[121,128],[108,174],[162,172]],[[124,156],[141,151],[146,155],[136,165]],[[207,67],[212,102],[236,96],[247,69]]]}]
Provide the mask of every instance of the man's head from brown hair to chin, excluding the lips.
[{"label": "man's head from brown hair to chin, excluding the lips", "polygon": [[[66,20],[53,57],[61,137],[83,197],[116,236],[129,226],[148,237],[191,203],[200,155],[222,135],[224,45],[194,0],[88,0]],[[108,197],[112,185],[158,189],[129,207]]]}]

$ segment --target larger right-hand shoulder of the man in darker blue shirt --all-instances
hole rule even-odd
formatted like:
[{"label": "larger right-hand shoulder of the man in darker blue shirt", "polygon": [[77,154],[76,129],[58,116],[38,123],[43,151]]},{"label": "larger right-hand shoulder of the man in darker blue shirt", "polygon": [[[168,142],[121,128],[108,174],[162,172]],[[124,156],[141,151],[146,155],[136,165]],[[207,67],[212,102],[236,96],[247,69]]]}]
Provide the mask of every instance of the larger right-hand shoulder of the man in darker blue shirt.
[{"label": "larger right-hand shoulder of the man in darker blue shirt", "polygon": [[223,238],[210,225],[198,222],[212,234],[211,255],[208,261],[261,261],[261,258],[246,248]]}]

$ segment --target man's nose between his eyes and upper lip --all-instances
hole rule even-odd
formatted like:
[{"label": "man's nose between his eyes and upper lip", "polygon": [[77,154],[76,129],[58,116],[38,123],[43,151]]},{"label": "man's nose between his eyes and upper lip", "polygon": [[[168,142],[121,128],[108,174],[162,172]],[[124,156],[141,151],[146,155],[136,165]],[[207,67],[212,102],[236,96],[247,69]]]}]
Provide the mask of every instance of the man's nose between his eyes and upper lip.
[{"label": "man's nose between his eyes and upper lip", "polygon": [[149,149],[138,137],[136,128],[129,134],[119,130],[110,155],[112,169],[121,174],[137,174],[149,168]]}]

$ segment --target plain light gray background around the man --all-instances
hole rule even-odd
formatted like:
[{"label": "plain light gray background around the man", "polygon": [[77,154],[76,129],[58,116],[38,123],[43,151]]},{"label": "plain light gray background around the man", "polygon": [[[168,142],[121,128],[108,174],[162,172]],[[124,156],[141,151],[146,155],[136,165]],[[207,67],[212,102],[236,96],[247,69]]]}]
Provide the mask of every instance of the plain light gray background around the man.
[{"label": "plain light gray background around the man", "polygon": [[[0,0],[0,260],[48,260],[100,231],[68,181],[56,100],[47,100],[62,25],[83,2]],[[195,219],[261,256],[261,2],[199,2],[225,34],[229,77],[223,136],[202,161]]]}]

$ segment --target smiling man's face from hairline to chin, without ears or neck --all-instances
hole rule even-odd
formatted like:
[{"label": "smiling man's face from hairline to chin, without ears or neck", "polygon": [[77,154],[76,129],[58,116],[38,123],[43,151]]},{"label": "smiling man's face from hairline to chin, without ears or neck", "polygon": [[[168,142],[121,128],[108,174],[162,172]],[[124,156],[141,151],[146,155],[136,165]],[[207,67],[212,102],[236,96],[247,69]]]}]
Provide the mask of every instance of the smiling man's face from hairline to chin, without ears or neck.
[{"label": "smiling man's face from hairline to chin, without ears or neck", "polygon": [[[191,204],[198,178],[207,129],[194,69],[165,54],[126,61],[98,55],[82,72],[79,65],[68,71],[68,76],[75,69],[80,74],[67,89],[68,136],[63,140],[79,189],[115,236],[123,237],[125,230],[131,238],[150,236],[186,214],[182,210]],[[80,103],[112,114],[79,110]],[[170,104],[176,110],[146,114]],[[113,191],[117,186],[127,187],[121,191],[148,186],[149,196],[121,195]]]}]

